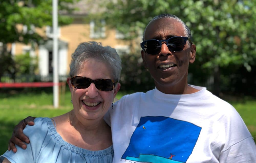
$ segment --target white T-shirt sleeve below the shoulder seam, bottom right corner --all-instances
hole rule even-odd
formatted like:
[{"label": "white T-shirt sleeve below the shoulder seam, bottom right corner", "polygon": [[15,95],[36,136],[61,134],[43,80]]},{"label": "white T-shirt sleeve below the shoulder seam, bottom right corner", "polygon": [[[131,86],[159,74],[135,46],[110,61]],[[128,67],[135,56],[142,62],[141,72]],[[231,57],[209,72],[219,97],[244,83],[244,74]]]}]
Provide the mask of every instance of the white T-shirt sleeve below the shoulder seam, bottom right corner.
[{"label": "white T-shirt sleeve below the shoulder seam, bottom right corner", "polygon": [[248,137],[224,151],[219,161],[225,163],[253,163],[256,162],[256,145],[252,137]]}]

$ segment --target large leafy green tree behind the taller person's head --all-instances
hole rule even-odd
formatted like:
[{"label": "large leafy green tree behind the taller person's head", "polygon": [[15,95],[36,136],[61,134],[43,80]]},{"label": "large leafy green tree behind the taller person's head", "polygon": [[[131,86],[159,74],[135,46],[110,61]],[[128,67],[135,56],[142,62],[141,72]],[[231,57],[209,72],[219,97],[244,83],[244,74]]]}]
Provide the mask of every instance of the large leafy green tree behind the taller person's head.
[{"label": "large leafy green tree behind the taller person's head", "polygon": [[[213,76],[212,90],[217,95],[220,80],[232,80],[230,74],[223,76],[221,71],[232,66],[233,70],[245,67],[251,72],[255,66],[256,1],[116,0],[104,2],[104,6],[105,12],[100,17],[106,19],[106,24],[129,33],[127,39],[141,35],[146,24],[161,13],[181,18],[190,27],[197,46],[196,62],[190,70],[193,75],[200,71],[198,79],[204,82]],[[196,79],[194,82],[202,82]]]}]

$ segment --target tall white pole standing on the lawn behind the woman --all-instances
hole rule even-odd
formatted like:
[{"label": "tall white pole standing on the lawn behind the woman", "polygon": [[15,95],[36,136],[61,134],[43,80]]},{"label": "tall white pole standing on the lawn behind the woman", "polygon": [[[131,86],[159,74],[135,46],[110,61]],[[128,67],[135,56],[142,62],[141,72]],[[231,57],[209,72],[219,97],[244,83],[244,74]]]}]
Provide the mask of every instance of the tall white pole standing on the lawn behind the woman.
[{"label": "tall white pole standing on the lawn behind the woman", "polygon": [[58,0],[52,0],[52,28],[53,28],[53,103],[59,107],[59,71],[58,71]]}]

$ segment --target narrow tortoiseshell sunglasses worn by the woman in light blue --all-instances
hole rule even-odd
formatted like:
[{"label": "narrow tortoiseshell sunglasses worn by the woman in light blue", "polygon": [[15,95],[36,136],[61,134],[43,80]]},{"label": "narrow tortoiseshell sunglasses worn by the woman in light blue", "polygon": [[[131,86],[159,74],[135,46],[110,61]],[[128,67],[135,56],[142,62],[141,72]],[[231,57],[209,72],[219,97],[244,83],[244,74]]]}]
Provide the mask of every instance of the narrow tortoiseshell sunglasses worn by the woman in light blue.
[{"label": "narrow tortoiseshell sunglasses worn by the woman in light blue", "polygon": [[71,77],[71,84],[74,88],[84,89],[88,88],[91,83],[95,84],[95,87],[102,91],[112,91],[115,87],[115,81],[111,79],[96,79],[92,80],[83,76]]}]

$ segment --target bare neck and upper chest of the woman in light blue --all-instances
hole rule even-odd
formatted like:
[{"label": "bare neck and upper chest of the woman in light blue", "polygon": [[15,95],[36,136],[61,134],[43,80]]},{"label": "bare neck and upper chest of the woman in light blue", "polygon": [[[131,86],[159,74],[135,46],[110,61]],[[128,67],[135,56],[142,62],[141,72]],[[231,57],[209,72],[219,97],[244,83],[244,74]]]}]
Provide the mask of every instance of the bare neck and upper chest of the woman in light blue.
[{"label": "bare neck and upper chest of the woman in light blue", "polygon": [[73,110],[53,118],[56,130],[66,142],[91,151],[112,145],[111,129],[103,120],[78,119]]}]

